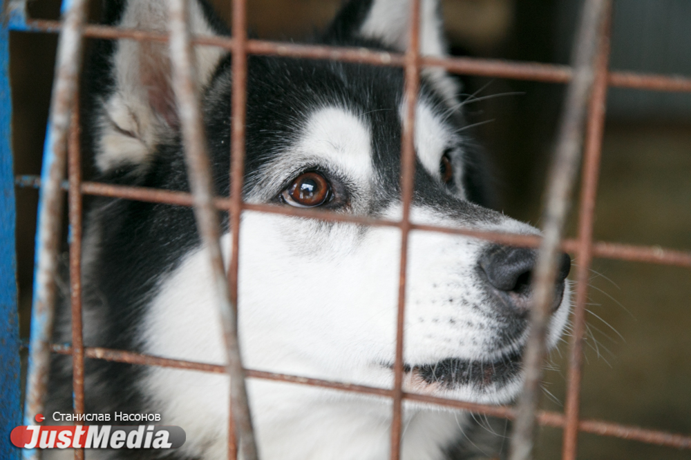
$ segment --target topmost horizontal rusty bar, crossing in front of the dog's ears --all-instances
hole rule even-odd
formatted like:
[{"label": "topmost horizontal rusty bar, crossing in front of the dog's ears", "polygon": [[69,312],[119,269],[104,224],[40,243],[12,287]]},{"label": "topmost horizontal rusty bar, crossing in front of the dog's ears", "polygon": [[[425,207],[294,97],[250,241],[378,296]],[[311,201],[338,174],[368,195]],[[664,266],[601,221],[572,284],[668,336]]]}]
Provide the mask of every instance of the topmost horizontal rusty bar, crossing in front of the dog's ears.
[{"label": "topmost horizontal rusty bar, crossing in front of the dog's ears", "polygon": [[[27,22],[27,30],[35,32],[59,32],[59,21],[35,19]],[[116,28],[89,24],[84,35],[99,39],[133,39],[167,41],[167,34],[144,32],[142,30]],[[197,36],[192,39],[195,45],[218,46],[233,50],[233,39],[227,37]],[[366,48],[345,48],[332,46],[302,45],[265,40],[247,40],[247,52],[304,59],[332,59],[368,63],[375,66],[404,66],[402,54],[377,52]],[[479,75],[485,77],[542,81],[545,83],[568,83],[572,71],[569,66],[536,62],[508,61],[504,59],[480,59],[472,57],[422,57],[422,66],[444,68],[457,74]],[[638,72],[610,72],[609,86],[636,88],[650,91],[691,92],[691,78],[674,75],[645,74]]]}]

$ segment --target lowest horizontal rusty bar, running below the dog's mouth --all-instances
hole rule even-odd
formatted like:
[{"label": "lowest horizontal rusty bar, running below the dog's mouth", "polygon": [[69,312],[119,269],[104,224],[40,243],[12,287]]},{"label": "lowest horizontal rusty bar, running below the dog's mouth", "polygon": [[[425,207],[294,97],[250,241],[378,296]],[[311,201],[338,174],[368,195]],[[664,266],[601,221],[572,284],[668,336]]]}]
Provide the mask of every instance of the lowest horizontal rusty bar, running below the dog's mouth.
[{"label": "lowest horizontal rusty bar, running below the dog's mouth", "polygon": [[[68,345],[64,346],[53,344],[51,349],[53,352],[59,354],[70,354],[72,352],[72,349]],[[84,349],[84,352],[85,356],[90,359],[103,359],[105,361],[115,361],[118,363],[129,363],[140,366],[159,366],[164,368],[192,370],[199,372],[213,372],[216,374],[224,374],[227,372],[227,368],[225,366],[219,366],[216,364],[155,357],[151,356],[150,354],[140,354],[124,350],[112,350],[111,348],[87,347]],[[386,388],[362,386],[353,383],[343,383],[330,380],[311,379],[308,377],[299,377],[296,375],[278,374],[275,372],[265,372],[252,369],[246,369],[245,373],[247,374],[247,377],[253,379],[281,381],[287,383],[296,383],[298,385],[330,388],[332,390],[372,394],[373,396],[392,397],[392,390],[387,390]],[[428,394],[417,394],[410,392],[404,392],[403,397],[404,399],[409,399],[410,401],[419,401],[422,403],[435,404],[437,406],[452,407],[477,414],[489,415],[491,417],[515,419],[515,409],[511,406],[489,406],[487,404],[468,403],[466,401],[458,401],[456,399],[446,399],[429,396]],[[540,425],[543,426],[560,428],[565,426],[566,423],[564,414],[560,414],[558,412],[538,410],[536,417]],[[647,430],[645,428],[639,428],[636,426],[627,426],[619,423],[592,419],[581,420],[578,424],[578,429],[583,432],[600,434],[601,436],[629,439],[632,441],[656,444],[658,446],[691,450],[691,436],[685,436],[683,434],[674,434],[659,430]]]}]

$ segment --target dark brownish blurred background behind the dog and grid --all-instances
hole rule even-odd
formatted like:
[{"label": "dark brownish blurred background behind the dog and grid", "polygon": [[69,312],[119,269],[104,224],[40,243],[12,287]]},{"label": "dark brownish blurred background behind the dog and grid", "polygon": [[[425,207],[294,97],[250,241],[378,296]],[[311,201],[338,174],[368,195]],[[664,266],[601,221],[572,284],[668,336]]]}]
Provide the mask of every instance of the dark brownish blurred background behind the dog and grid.
[{"label": "dark brownish blurred background behind the dog and grid", "polygon": [[[95,2],[92,2],[95,3]],[[97,3],[97,2],[96,2]],[[214,0],[229,20],[229,1]],[[300,41],[340,0],[249,0],[255,37]],[[582,0],[444,0],[456,55],[568,63]],[[611,68],[691,75],[691,2],[614,2]],[[97,19],[97,5],[92,16]],[[59,1],[30,3],[57,19]],[[38,174],[56,36],[12,32],[17,174]],[[542,189],[564,87],[461,77],[498,188],[498,208],[540,226]],[[17,190],[21,335],[28,337],[37,192]],[[578,206],[574,207],[577,210]],[[574,214],[575,212],[572,212]],[[569,234],[575,236],[572,216]],[[691,250],[691,94],[610,89],[595,238]],[[578,259],[575,260],[578,263]],[[691,434],[691,270],[596,259],[591,272],[582,416]],[[562,410],[566,344],[552,353],[543,406]],[[540,432],[540,459],[558,458],[561,430]],[[688,459],[688,451],[581,434],[583,459]]]}]

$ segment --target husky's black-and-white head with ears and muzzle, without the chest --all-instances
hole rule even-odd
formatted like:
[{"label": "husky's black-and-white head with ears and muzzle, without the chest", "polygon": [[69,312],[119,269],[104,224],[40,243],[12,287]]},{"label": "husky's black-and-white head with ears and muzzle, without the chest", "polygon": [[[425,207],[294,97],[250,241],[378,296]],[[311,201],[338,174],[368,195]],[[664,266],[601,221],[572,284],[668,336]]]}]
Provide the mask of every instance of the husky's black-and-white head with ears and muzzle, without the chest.
[{"label": "husky's black-and-white head with ears and muzzle, without the chest", "polygon": [[[422,52],[442,55],[437,6],[422,3]],[[130,0],[113,18],[125,27],[165,30],[164,8],[164,1]],[[401,51],[408,9],[407,1],[352,1],[322,41]],[[204,10],[191,2],[193,30],[219,32]],[[122,40],[112,52],[111,84],[94,99],[97,167],[105,180],[187,190],[167,48]],[[212,48],[198,48],[197,59],[214,177],[218,192],[227,194],[230,60]],[[245,200],[399,219],[403,86],[400,68],[251,57]],[[481,206],[482,161],[466,136],[456,92],[440,70],[423,72],[413,222],[537,234]],[[191,210],[109,202],[92,219],[101,235],[99,257],[91,261],[102,279],[98,288],[111,304],[138,305],[138,323],[123,323],[122,314],[117,321],[142,337],[142,350],[223,362],[217,303]],[[225,234],[226,255],[229,240]],[[408,247],[406,388],[509,401],[520,388],[535,253],[417,230]],[[245,365],[389,387],[400,250],[397,228],[243,213],[238,308]],[[550,346],[569,311],[568,261],[562,265]],[[175,394],[156,372],[165,371],[151,371],[145,390],[151,398]],[[213,410],[224,392],[219,385],[196,397],[195,410]]]}]

